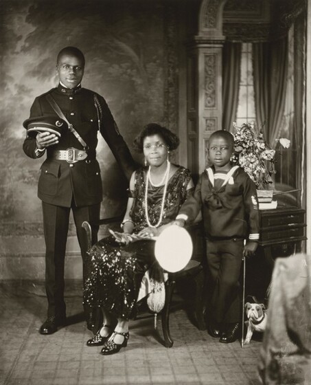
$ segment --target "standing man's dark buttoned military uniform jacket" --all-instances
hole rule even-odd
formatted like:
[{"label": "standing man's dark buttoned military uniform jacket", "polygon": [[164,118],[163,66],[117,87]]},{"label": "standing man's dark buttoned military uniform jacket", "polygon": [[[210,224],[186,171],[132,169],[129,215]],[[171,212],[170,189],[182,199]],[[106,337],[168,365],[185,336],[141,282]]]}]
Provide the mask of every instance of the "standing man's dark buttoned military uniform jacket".
[{"label": "standing man's dark buttoned military uniform jacket", "polygon": [[[89,89],[77,87],[67,89],[58,85],[46,94],[38,96],[30,109],[30,118],[36,116],[56,115],[46,95],[50,94],[67,120],[89,146],[88,157],[74,164],[52,159],[52,153],[74,147],[83,150],[82,144],[69,131],[63,129],[58,144],[46,149],[47,159],[41,166],[38,181],[38,197],[56,206],[70,207],[74,199],[76,206],[89,206],[102,201],[102,179],[100,166],[95,159],[97,131],[111,148],[115,159],[126,177],[135,170],[128,146],[120,135],[113,115],[102,96]],[[29,157],[36,158],[36,139],[27,137],[23,143],[23,151]]]}]

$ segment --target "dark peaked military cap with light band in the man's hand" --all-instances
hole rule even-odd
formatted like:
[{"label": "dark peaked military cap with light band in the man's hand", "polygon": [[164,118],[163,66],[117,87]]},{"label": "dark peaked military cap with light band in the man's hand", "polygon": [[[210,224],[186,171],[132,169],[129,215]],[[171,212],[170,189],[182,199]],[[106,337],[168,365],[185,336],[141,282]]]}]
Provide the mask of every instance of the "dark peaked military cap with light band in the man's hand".
[{"label": "dark peaked military cap with light band in the man's hand", "polygon": [[65,120],[62,120],[55,115],[29,118],[23,122],[23,126],[30,137],[36,137],[37,133],[42,132],[54,133],[60,137],[62,130],[68,128]]}]

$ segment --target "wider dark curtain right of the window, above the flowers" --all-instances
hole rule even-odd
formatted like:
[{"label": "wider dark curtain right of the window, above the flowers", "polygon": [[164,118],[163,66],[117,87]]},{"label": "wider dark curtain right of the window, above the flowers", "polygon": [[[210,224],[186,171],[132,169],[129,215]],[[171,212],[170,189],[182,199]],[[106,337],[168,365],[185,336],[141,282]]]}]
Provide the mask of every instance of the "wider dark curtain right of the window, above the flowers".
[{"label": "wider dark curtain right of the window, above the flowers", "polygon": [[253,78],[257,127],[275,148],[286,100],[288,39],[253,43]]}]

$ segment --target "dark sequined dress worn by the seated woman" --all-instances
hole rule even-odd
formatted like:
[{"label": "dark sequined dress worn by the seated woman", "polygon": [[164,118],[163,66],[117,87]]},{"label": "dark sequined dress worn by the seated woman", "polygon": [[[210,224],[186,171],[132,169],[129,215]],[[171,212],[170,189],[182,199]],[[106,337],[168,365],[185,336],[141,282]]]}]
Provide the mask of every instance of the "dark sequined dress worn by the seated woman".
[{"label": "dark sequined dress worn by the seated woman", "polygon": [[[135,233],[148,227],[145,215],[146,171],[146,168],[141,168],[135,175],[135,189],[132,192],[135,199],[130,212],[135,222]],[[190,179],[189,170],[181,166],[170,177],[161,225],[175,219],[187,198]],[[152,224],[159,221],[162,197],[163,186],[148,184],[148,217]],[[141,279],[154,261],[154,241],[151,240],[120,245],[113,236],[108,236],[93,245],[84,282],[84,305],[91,309],[87,314],[89,329],[93,329],[95,320],[92,318],[99,307],[104,307],[117,318],[128,320],[135,316]]]}]

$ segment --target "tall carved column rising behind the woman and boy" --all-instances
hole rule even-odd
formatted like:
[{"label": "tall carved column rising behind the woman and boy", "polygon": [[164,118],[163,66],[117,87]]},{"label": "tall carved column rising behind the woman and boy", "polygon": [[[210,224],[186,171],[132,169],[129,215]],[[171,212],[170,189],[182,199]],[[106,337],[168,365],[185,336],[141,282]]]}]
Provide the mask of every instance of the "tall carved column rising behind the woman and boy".
[{"label": "tall carved column rising behind the woman and boy", "polygon": [[198,35],[187,53],[187,166],[194,175],[207,164],[207,142],[222,129],[222,10],[226,0],[204,0]]}]

